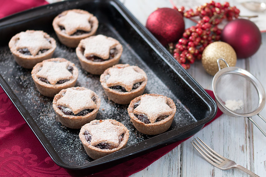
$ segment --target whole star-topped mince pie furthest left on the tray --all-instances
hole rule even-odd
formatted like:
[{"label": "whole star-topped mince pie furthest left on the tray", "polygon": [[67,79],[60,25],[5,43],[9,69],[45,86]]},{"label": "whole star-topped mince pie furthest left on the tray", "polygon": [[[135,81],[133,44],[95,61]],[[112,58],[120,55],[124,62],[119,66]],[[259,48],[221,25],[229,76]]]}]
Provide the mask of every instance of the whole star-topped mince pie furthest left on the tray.
[{"label": "whole star-topped mince pie furthest left on the tray", "polygon": [[52,57],[56,42],[46,32],[27,30],[13,36],[8,46],[15,61],[20,66],[31,69],[37,63]]}]

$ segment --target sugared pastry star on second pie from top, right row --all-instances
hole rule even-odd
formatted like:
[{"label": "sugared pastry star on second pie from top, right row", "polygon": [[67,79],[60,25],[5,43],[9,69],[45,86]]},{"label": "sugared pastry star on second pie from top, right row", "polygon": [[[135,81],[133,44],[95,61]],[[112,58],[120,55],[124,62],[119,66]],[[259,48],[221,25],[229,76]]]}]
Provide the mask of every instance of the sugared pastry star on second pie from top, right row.
[{"label": "sugared pastry star on second pie from top, right row", "polygon": [[85,48],[85,57],[95,55],[106,60],[110,56],[110,49],[114,48],[119,42],[111,37],[100,34],[83,39],[81,44]]}]

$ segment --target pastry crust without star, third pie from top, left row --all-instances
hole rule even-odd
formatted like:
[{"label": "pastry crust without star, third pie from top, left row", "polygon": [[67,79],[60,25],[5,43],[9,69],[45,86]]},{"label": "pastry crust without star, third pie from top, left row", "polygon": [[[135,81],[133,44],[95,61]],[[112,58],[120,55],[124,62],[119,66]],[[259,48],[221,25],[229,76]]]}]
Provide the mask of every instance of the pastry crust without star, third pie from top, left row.
[{"label": "pastry crust without star, third pie from top, left row", "polygon": [[[74,89],[74,90],[89,90],[85,87],[71,87],[68,89]],[[97,113],[100,108],[100,98],[98,95],[94,93],[94,96],[96,98],[95,104],[97,105],[97,108],[95,108],[92,112],[86,114],[85,116],[70,116],[64,114],[57,106],[57,101],[63,96],[63,94],[66,92],[67,89],[61,90],[58,94],[54,96],[53,100],[53,108],[56,113],[56,116],[58,118],[58,121],[61,122],[62,125],[73,128],[73,129],[80,129],[83,125],[89,123],[90,121],[94,120],[97,116]]]}]

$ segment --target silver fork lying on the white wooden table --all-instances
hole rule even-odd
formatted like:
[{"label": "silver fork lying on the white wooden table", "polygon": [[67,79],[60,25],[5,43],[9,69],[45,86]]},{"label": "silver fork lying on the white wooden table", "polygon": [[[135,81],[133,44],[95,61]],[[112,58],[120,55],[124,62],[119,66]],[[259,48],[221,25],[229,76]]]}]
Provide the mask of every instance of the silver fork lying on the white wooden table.
[{"label": "silver fork lying on the white wooden table", "polygon": [[[198,137],[197,137],[198,138]],[[221,170],[229,170],[231,168],[236,168],[239,170],[242,170],[243,172],[247,173],[248,175],[252,177],[259,177],[255,173],[249,171],[248,169],[244,168],[241,165],[236,164],[233,160],[229,160],[222,155],[215,152],[212,148],[210,148],[208,145],[206,145],[200,138],[198,138],[202,143],[200,143],[196,138],[197,144],[194,140],[192,140],[191,144],[194,146],[194,148],[203,156],[204,159],[206,159],[210,164],[217,167]],[[203,146],[203,145],[205,146]],[[203,150],[204,149],[204,150]]]}]

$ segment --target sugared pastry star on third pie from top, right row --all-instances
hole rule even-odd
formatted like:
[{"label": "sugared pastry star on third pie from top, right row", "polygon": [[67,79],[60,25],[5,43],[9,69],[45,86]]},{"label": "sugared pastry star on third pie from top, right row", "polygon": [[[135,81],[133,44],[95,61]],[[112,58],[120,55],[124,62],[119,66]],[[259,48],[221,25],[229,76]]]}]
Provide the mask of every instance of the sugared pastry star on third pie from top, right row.
[{"label": "sugared pastry star on third pie from top, right row", "polygon": [[106,85],[122,86],[126,91],[131,91],[135,83],[145,80],[144,74],[138,73],[134,70],[134,66],[125,68],[110,68],[108,71],[110,77],[106,80]]}]

